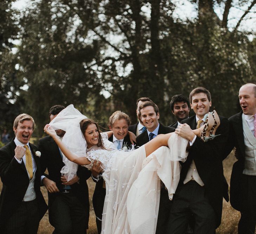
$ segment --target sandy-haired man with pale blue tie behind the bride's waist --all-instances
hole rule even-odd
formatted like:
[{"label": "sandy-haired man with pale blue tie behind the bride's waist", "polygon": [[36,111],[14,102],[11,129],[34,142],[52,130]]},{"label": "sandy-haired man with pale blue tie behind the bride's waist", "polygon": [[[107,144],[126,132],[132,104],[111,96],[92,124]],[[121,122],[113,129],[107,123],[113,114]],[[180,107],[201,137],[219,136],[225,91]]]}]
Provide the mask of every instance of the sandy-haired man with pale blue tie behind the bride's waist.
[{"label": "sandy-haired man with pale blue tie behind the bride's waist", "polygon": [[[110,116],[109,129],[113,131],[113,135],[109,138],[109,141],[113,142],[117,149],[122,149],[123,147],[131,148],[132,143],[128,134],[130,123],[129,116],[124,112],[116,111]],[[101,233],[102,212],[106,195],[105,181],[102,178],[102,173],[99,173],[101,171],[100,164],[95,162],[92,168],[92,178],[96,182],[96,186],[92,203],[96,215],[98,233]]]}]

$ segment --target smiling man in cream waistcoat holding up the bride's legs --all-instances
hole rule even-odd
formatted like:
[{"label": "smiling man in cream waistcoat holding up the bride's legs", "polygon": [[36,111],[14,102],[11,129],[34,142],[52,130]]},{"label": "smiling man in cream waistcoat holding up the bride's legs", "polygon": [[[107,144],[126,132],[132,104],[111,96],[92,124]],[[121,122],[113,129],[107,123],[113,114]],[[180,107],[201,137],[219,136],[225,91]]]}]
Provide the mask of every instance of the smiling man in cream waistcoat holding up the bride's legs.
[{"label": "smiling man in cream waistcoat holding up the bride's legs", "polygon": [[215,233],[221,223],[223,197],[228,201],[228,184],[223,175],[222,152],[227,142],[228,120],[219,116],[220,125],[213,140],[203,142],[191,129],[204,124],[209,113],[211,94],[197,87],[190,93],[195,116],[182,121],[177,133],[190,142],[189,155],[182,164],[179,185],[173,196],[168,233],[184,233],[191,214],[194,233]]}]

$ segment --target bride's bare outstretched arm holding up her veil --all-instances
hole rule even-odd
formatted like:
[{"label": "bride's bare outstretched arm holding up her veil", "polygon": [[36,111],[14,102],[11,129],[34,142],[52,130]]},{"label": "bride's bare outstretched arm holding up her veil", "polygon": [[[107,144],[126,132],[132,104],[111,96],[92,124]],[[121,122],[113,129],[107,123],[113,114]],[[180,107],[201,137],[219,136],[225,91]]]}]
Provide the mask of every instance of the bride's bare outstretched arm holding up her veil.
[{"label": "bride's bare outstretched arm holding up her veil", "polygon": [[79,165],[89,165],[91,162],[85,158],[85,157],[81,157],[78,158],[78,156],[73,155],[70,150],[64,145],[64,143],[62,141],[59,140],[56,132],[54,131],[54,129],[50,126],[50,125],[45,125],[44,127],[44,131],[50,135],[53,140],[56,142],[56,144],[59,146],[61,152],[66,156],[66,158],[74,163],[77,163]]}]

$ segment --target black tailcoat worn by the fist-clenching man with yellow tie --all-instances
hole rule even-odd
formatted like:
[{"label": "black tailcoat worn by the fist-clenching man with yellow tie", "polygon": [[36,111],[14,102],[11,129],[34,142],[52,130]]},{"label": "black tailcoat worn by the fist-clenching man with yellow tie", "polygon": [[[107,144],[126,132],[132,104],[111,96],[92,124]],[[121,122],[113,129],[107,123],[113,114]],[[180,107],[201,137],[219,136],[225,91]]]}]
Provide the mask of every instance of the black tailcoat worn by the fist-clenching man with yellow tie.
[{"label": "black tailcoat worn by the fist-clenching man with yellow tie", "polygon": [[[42,196],[41,185],[41,169],[39,157],[35,156],[37,147],[29,143],[37,170],[35,174],[34,189],[37,195],[36,200],[38,202],[40,219],[44,216],[47,205],[44,197]],[[11,215],[17,210],[21,204],[25,193],[29,185],[29,178],[26,170],[26,166],[22,160],[22,163],[14,158],[16,144],[14,139],[6,146],[0,148],[0,176],[3,183],[1,195],[0,195],[0,229]]]}]

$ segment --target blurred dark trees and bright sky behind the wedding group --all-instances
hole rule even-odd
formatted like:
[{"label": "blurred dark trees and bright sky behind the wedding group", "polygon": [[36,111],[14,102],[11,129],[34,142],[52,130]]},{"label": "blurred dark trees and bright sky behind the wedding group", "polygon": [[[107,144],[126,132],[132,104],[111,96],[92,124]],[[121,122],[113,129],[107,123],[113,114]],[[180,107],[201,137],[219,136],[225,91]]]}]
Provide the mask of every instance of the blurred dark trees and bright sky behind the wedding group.
[{"label": "blurred dark trees and bright sky behind the wedding group", "polygon": [[239,87],[256,82],[255,12],[255,0],[2,0],[0,144],[20,113],[37,143],[56,104],[107,127],[116,110],[136,123],[148,96],[170,125],[171,97],[203,86],[220,115],[239,112]]}]

